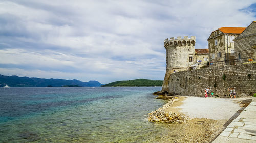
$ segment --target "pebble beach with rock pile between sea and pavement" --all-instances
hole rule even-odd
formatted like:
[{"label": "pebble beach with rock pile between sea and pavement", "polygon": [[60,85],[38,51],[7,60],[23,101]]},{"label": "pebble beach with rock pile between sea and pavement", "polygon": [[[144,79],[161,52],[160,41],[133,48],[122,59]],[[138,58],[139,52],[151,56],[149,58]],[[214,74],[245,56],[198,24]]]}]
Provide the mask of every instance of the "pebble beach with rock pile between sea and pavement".
[{"label": "pebble beach with rock pile between sea and pavement", "polygon": [[148,121],[165,123],[170,128],[163,130],[161,137],[146,142],[211,142],[239,115],[247,101],[250,102],[249,97],[174,97],[163,107],[148,113]]}]

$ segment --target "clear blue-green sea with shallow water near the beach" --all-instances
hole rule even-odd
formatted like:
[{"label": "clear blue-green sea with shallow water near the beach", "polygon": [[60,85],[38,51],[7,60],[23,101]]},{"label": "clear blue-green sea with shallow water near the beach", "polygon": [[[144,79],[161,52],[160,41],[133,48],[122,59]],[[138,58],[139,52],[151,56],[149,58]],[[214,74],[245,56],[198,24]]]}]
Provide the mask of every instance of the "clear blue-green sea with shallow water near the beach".
[{"label": "clear blue-green sea with shallow water near the beach", "polygon": [[0,142],[159,142],[161,87],[0,88]]}]

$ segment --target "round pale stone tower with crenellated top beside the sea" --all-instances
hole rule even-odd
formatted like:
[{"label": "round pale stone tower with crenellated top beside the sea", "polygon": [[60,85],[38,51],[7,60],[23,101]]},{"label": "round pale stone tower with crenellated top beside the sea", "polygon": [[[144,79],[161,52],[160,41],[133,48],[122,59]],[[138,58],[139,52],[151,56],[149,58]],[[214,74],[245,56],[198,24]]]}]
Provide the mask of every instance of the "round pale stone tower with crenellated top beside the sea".
[{"label": "round pale stone tower with crenellated top beside the sea", "polygon": [[196,37],[180,36],[164,40],[164,48],[166,49],[166,73],[162,85],[162,91],[166,92],[169,89],[169,77],[172,73],[185,71],[191,68],[195,57]]}]

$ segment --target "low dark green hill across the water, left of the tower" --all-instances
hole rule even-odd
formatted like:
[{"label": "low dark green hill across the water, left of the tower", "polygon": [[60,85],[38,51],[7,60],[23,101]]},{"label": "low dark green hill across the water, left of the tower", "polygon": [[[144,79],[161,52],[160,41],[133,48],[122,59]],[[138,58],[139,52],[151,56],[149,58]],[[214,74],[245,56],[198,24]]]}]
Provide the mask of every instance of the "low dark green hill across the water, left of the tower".
[{"label": "low dark green hill across the water, left of the tower", "polygon": [[116,81],[109,84],[105,84],[102,87],[151,87],[162,86],[163,80],[148,80],[148,79],[136,79],[126,81]]}]

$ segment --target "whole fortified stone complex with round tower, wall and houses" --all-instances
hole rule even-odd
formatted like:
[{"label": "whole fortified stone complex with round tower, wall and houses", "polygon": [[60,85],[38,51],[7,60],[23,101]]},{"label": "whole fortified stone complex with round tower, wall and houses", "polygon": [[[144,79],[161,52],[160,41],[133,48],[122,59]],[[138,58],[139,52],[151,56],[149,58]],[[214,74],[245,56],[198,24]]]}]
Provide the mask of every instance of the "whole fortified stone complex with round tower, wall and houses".
[{"label": "whole fortified stone complex with round tower, wall and houses", "polygon": [[[195,36],[164,40],[166,73],[159,94],[204,96],[204,89],[210,88],[215,95],[228,97],[230,87],[236,87],[237,96],[256,93],[256,62],[242,64],[243,59],[256,61],[256,21],[247,28],[213,31],[209,49],[195,49],[195,42]],[[208,62],[210,66],[200,69]]]}]

